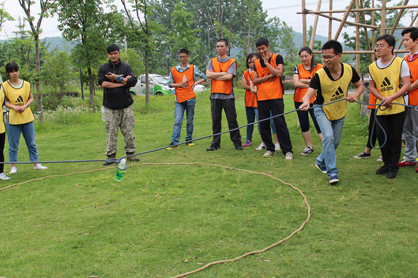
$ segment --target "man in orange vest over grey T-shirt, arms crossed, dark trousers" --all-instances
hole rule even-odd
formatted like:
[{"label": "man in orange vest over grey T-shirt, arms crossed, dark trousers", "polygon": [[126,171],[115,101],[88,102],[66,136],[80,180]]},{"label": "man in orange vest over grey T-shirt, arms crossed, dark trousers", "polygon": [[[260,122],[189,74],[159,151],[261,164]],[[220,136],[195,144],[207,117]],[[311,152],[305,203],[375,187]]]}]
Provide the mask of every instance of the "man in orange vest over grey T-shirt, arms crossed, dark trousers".
[{"label": "man in orange vest over grey T-shirt, arms crossed, dark trousers", "polygon": [[[228,41],[219,39],[216,43],[218,56],[209,60],[206,76],[212,79],[210,86],[210,112],[212,114],[213,134],[222,131],[222,108],[225,111],[229,130],[238,128],[235,111],[235,95],[233,93],[233,76],[236,76],[237,63],[227,55]],[[229,133],[235,149],[242,150],[240,130]],[[213,136],[210,147],[206,151],[215,151],[221,147],[221,136]]]}]

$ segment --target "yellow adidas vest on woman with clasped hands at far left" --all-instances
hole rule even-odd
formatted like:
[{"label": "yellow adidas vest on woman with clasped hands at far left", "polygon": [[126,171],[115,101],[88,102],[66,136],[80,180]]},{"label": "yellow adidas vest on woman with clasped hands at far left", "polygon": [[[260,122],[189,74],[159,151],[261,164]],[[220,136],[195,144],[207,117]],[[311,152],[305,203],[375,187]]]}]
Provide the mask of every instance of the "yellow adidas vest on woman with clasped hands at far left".
[{"label": "yellow adidas vest on woman with clasped hands at far left", "polygon": [[[4,93],[10,104],[16,106],[24,106],[26,104],[29,95],[31,94],[31,83],[22,81],[20,88],[13,88],[8,81],[1,85],[3,85]],[[23,112],[17,112],[10,109],[8,120],[9,124],[26,124],[28,122],[33,122],[35,117],[33,117],[31,108],[28,107]]]}]

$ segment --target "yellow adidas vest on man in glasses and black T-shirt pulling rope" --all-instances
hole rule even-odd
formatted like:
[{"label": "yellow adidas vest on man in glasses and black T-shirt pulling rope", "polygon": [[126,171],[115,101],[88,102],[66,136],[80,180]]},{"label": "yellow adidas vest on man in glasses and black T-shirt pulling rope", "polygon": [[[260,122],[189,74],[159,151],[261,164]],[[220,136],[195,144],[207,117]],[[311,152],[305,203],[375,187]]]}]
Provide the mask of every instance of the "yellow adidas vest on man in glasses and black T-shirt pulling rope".
[{"label": "yellow adidas vest on man in glasses and black T-shirt pulling rope", "polygon": [[[316,72],[320,80],[320,91],[324,98],[323,104],[329,104],[332,101],[346,98],[348,95],[348,85],[350,85],[353,78],[352,67],[348,64],[343,65],[343,76],[337,80],[332,80],[327,75],[327,72],[322,68]],[[338,101],[334,104],[323,106],[323,110],[328,120],[340,120],[346,116],[347,100]]]}]

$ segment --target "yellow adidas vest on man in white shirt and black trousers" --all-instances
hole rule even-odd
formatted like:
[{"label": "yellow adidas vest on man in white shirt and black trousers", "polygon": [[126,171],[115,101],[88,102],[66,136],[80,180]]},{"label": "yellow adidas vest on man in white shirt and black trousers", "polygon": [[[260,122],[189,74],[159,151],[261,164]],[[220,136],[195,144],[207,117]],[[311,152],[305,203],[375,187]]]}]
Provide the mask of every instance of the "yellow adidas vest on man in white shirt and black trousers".
[{"label": "yellow adidas vest on man in white shirt and black trousers", "polygon": [[[401,76],[401,65],[402,58],[395,57],[392,60],[392,63],[385,67],[385,69],[380,69],[376,62],[373,62],[369,65],[369,73],[374,83],[376,84],[376,89],[383,97],[389,97],[398,92],[400,88],[400,76]],[[398,97],[392,101],[396,104],[405,104],[405,99],[403,96]],[[385,109],[385,106],[382,106],[383,111],[378,109],[377,115],[392,115],[398,114],[405,111],[405,106],[393,104]]]}]

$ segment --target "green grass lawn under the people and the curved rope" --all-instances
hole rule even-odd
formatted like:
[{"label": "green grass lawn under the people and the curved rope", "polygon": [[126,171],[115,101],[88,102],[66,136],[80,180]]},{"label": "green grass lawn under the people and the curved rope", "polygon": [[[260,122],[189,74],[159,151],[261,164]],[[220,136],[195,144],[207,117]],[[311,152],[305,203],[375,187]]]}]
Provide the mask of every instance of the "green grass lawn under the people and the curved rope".
[{"label": "green grass lawn under the people and the curved rope", "polygon": [[[137,152],[171,142],[173,98],[151,101],[161,112],[135,114]],[[143,103],[136,97],[134,110]],[[285,96],[285,104],[286,111],[293,110],[292,96]],[[236,108],[243,125],[241,91]],[[263,158],[255,151],[260,139],[254,129],[254,145],[242,152],[226,134],[215,152],[206,152],[208,138],[194,147],[139,156],[120,182],[114,179],[116,168],[102,163],[48,164],[45,171],[18,165],[0,188],[47,175],[98,171],[0,191],[0,277],[173,277],[261,250],[307,219],[300,193],[261,174],[152,163],[208,163],[272,174],[300,188],[311,206],[311,220],[290,240],[190,277],[417,277],[418,174],[415,167],[401,168],[388,180],[375,174],[382,165],[376,162],[378,151],[369,159],[353,158],[366,145],[367,121],[359,117],[357,104],[348,108],[336,151],[336,186],[314,166],[322,149],[317,136],[314,154],[300,155],[305,146],[295,113],[286,115],[295,152],[291,162],[281,152]],[[40,160],[104,159],[104,122],[99,113],[95,119],[37,130]],[[212,133],[208,92],[197,98],[194,122],[194,138]],[[222,125],[226,130],[225,117]],[[245,134],[241,129],[242,142]],[[118,150],[123,156],[121,135]],[[23,138],[19,158],[29,161]]]}]

